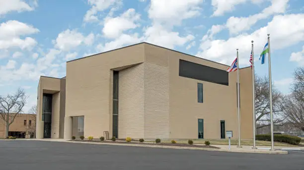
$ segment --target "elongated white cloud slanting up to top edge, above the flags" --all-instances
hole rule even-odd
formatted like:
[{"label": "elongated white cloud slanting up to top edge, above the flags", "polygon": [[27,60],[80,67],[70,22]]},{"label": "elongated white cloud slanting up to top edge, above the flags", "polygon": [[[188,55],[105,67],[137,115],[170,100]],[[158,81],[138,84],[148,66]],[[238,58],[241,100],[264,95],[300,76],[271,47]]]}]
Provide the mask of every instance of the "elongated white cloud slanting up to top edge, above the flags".
[{"label": "elongated white cloud slanting up to top edge, above the flags", "polygon": [[251,28],[258,20],[266,19],[273,14],[284,13],[288,7],[289,0],[272,0],[271,5],[265,8],[261,13],[250,15],[249,17],[228,18],[226,26],[230,34],[237,34]]}]

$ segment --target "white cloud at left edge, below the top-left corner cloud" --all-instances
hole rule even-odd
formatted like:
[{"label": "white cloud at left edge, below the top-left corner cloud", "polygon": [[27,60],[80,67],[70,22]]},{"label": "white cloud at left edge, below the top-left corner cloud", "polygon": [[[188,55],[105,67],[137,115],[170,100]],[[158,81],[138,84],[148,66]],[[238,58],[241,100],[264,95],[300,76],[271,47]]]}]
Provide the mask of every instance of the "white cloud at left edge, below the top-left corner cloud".
[{"label": "white cloud at left edge, below the top-left corner cloud", "polygon": [[39,30],[31,25],[9,20],[0,24],[0,50],[18,47],[21,50],[32,50],[37,42],[31,37],[21,39],[20,36],[38,33]]}]

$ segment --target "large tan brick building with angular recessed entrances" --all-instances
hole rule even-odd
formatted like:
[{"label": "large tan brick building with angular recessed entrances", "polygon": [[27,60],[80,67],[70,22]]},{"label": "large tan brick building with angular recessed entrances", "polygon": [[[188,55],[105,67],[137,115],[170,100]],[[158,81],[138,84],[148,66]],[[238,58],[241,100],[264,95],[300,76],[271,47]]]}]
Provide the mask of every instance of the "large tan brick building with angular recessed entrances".
[{"label": "large tan brick building with angular recessed entrances", "polygon": [[[37,138],[237,138],[236,71],[140,43],[67,62],[40,77]],[[252,138],[252,73],[240,69],[241,138]]]}]

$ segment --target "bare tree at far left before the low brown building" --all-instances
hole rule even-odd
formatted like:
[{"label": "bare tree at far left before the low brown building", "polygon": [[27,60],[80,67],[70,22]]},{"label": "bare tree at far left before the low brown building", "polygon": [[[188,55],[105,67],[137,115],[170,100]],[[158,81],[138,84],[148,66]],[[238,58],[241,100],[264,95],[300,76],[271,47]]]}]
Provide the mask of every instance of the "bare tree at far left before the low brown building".
[{"label": "bare tree at far left before the low brown building", "polygon": [[9,125],[14,122],[17,114],[22,113],[26,100],[25,92],[21,88],[15,94],[0,96],[0,118],[4,120],[5,137],[8,136]]}]

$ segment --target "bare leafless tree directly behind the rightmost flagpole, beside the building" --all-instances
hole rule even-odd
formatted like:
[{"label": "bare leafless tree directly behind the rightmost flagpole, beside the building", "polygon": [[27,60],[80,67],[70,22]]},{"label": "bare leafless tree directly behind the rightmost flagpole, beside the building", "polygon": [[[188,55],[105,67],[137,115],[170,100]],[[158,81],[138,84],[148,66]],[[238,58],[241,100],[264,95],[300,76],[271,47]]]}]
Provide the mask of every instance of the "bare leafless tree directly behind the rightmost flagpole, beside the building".
[{"label": "bare leafless tree directly behind the rightmost flagpole, beside the building", "polygon": [[[285,96],[274,86],[272,88],[272,107],[273,123],[282,123],[286,119],[283,113]],[[270,125],[269,79],[266,76],[255,76],[255,115],[259,125],[257,129]]]}]

